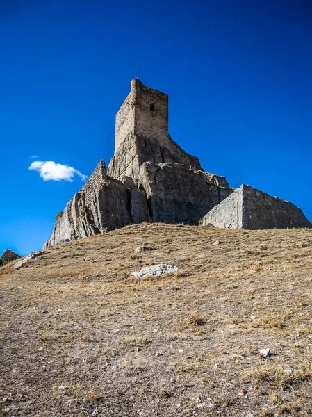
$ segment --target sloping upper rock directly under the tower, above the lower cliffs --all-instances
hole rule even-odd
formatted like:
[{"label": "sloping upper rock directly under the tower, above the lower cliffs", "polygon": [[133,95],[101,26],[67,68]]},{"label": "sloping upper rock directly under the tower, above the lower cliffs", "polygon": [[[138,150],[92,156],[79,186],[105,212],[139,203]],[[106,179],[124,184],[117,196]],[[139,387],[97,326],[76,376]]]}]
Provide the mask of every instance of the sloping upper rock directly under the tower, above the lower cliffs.
[{"label": "sloping upper rock directly under the tower, above the lower cliffs", "polygon": [[192,170],[200,170],[198,158],[191,156],[179,147],[168,135],[168,146],[162,147],[158,140],[129,133],[118,147],[108,165],[108,175],[122,180],[124,176],[138,179],[140,165],[152,163],[179,163]]}]

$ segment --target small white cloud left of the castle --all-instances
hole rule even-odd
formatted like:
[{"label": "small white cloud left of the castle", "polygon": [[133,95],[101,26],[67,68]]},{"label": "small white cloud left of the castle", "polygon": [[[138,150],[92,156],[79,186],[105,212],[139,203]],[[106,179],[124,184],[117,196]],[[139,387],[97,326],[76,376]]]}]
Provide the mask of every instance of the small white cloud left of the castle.
[{"label": "small white cloud left of the castle", "polygon": [[69,181],[72,182],[74,174],[79,175],[83,181],[88,177],[81,174],[79,170],[75,170],[69,165],[62,165],[54,161],[35,161],[28,167],[28,170],[39,172],[43,181]]}]

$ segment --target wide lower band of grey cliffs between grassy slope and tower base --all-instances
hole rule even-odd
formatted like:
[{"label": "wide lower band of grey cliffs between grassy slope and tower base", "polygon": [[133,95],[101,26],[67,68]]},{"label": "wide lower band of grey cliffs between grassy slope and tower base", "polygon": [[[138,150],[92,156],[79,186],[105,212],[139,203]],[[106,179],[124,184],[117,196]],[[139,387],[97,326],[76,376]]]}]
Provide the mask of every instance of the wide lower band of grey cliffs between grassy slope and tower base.
[{"label": "wide lower band of grey cliffs between grassy slope and tower base", "polygon": [[143,163],[138,179],[113,179],[104,161],[69,200],[44,247],[118,229],[130,223],[197,224],[232,192],[224,177],[176,163]]}]

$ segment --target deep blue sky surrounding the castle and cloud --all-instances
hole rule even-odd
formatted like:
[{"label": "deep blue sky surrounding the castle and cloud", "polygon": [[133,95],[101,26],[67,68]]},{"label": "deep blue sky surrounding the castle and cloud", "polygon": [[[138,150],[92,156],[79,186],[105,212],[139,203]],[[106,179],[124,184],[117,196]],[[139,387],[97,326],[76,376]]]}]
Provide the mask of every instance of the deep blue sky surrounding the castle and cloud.
[{"label": "deep blue sky surrounding the castle and cloud", "polygon": [[[0,253],[40,249],[83,176],[110,161],[135,62],[207,172],[312,220],[311,1],[8,0],[0,36]],[[82,178],[44,181],[34,161]]]}]

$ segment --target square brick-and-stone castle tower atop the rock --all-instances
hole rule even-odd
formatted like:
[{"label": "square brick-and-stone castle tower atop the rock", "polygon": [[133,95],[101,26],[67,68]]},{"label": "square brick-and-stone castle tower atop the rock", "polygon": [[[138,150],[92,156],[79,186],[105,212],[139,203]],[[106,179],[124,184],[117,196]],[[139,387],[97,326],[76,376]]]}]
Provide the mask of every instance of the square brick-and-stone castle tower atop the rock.
[{"label": "square brick-and-stone castle tower atop the rock", "polygon": [[168,134],[168,95],[131,81],[131,91],[116,114],[115,154],[129,135],[154,138],[170,147]]}]

